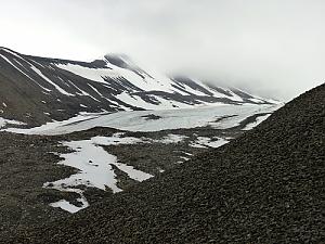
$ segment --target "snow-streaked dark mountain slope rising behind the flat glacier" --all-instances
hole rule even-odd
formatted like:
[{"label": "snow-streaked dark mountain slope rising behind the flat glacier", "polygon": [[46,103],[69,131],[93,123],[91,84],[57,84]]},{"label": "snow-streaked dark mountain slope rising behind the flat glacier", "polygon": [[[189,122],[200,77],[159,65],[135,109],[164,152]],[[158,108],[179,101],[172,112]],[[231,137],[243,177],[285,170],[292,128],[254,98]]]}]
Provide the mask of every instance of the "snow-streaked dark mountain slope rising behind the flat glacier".
[{"label": "snow-streaked dark mountain slope rising behind the flat glacier", "polygon": [[30,125],[68,119],[80,112],[270,103],[238,89],[143,70],[123,55],[87,63],[0,48],[0,117]]}]

